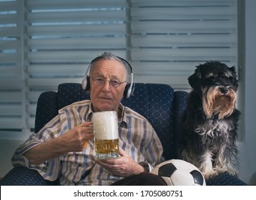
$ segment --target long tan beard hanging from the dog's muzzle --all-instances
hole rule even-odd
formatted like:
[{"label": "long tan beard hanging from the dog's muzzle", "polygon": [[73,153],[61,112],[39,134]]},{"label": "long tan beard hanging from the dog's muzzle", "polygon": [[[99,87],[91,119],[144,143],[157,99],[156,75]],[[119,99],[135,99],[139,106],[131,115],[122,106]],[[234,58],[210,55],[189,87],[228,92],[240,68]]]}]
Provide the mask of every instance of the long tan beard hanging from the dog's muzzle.
[{"label": "long tan beard hanging from the dog's muzzle", "polygon": [[230,116],[235,109],[237,94],[228,89],[227,94],[222,94],[220,86],[211,86],[202,89],[202,106],[208,119],[218,114],[218,119]]}]

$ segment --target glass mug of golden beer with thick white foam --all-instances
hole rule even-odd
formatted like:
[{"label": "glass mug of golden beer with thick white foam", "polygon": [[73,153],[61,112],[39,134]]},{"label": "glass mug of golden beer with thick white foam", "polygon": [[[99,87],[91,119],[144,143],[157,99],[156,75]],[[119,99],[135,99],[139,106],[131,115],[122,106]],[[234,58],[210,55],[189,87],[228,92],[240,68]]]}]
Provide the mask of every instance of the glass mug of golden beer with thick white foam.
[{"label": "glass mug of golden beer with thick white foam", "polygon": [[97,159],[114,159],[119,156],[119,136],[116,111],[92,114],[94,148]]}]

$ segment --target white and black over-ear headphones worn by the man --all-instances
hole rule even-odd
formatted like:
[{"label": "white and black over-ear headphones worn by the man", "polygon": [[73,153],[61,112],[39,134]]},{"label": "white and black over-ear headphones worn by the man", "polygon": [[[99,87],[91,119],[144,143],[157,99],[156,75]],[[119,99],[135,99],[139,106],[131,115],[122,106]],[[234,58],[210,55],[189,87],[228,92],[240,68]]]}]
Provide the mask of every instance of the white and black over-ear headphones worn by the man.
[{"label": "white and black over-ear headphones worn by the man", "polygon": [[[129,64],[129,62],[125,59],[120,58],[119,56],[117,56],[118,59],[120,59],[124,66],[129,66],[129,69],[131,71],[131,80],[130,83],[128,83],[125,86],[124,89],[124,99],[129,98],[129,96],[131,96],[134,92],[134,88],[135,88],[135,84],[134,84],[134,79],[133,79],[133,72],[132,72],[132,66]],[[98,56],[97,58],[93,59],[91,61],[91,64],[89,64],[89,66],[87,67],[87,70],[85,71],[84,74],[84,79],[82,80],[82,89],[84,89],[85,91],[89,91],[90,89],[90,79],[89,79],[89,72],[92,66],[92,63],[94,63],[95,61],[97,61],[98,59],[102,59],[102,56]]]}]

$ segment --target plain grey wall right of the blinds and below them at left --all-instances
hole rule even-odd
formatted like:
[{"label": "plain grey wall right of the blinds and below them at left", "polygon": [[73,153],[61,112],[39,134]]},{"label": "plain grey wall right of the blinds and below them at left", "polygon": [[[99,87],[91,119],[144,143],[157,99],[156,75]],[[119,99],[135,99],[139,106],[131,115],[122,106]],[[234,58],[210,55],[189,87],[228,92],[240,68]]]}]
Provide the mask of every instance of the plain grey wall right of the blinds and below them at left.
[{"label": "plain grey wall right of the blinds and below them at left", "polygon": [[[245,75],[240,84],[240,91],[244,96],[243,102],[243,137],[238,143],[240,150],[240,179],[247,184],[256,185],[256,1],[246,0],[245,2]],[[11,156],[21,140],[0,140],[0,177],[4,176],[11,169]]]}]

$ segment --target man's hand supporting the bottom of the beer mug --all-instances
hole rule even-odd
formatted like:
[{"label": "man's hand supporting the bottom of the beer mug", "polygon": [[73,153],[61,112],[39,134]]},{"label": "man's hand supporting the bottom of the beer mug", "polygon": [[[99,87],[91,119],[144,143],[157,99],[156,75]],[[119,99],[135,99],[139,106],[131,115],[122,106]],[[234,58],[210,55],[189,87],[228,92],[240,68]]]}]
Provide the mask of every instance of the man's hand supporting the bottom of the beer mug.
[{"label": "man's hand supporting the bottom of the beer mug", "polygon": [[143,166],[139,165],[132,156],[127,154],[119,147],[120,157],[117,159],[97,159],[95,162],[107,169],[110,173],[127,177],[132,174],[140,174],[144,171]]}]

